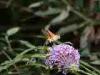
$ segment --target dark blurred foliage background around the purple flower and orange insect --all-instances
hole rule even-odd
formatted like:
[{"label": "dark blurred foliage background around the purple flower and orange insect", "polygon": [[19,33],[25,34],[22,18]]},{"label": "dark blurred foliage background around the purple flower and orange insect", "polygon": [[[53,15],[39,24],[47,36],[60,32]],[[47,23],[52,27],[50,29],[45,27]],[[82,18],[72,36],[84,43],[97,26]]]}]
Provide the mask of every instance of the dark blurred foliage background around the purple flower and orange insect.
[{"label": "dark blurred foliage background around the purple flower and orange insect", "polygon": [[0,75],[49,75],[48,27],[100,71],[100,0],[0,0]]}]

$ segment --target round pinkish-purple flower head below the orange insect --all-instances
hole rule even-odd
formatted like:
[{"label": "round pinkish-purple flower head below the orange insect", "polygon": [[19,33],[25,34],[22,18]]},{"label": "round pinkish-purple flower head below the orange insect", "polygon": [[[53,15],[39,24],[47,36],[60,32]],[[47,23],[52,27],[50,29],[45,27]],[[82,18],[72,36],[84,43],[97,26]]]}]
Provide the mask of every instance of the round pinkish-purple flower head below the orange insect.
[{"label": "round pinkish-purple flower head below the orange insect", "polygon": [[76,68],[79,67],[80,54],[73,46],[63,43],[49,47],[48,50],[49,56],[45,64],[49,67],[56,66],[61,70],[70,69],[73,65],[75,65]]}]

